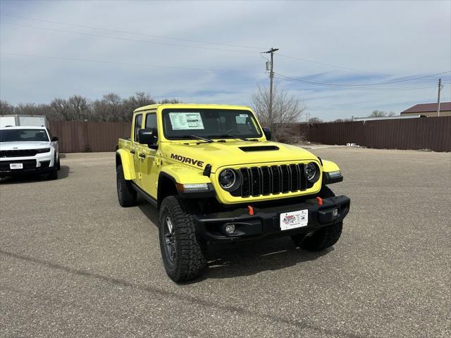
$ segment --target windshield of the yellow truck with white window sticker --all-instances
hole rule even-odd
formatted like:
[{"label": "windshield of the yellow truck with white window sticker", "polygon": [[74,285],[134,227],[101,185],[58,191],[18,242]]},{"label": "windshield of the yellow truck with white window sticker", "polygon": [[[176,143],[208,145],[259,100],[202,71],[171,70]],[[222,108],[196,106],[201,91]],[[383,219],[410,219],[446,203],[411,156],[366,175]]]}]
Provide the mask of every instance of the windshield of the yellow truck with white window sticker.
[{"label": "windshield of the yellow truck with white window sticker", "polygon": [[234,109],[164,109],[163,131],[166,139],[245,139],[262,135],[250,111]]}]

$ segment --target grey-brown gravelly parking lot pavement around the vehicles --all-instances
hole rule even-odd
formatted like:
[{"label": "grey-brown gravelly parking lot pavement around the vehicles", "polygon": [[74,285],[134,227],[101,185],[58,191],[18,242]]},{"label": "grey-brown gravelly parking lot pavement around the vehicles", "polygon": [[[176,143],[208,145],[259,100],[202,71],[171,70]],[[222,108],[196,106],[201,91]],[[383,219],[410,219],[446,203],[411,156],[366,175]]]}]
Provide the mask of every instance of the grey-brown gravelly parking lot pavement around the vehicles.
[{"label": "grey-brown gravelly parking lot pavement around the vehicles", "polygon": [[157,213],[121,208],[114,154],[68,154],[56,181],[0,182],[0,337],[451,337],[451,154],[312,149],[351,198],[342,238],[209,251],[178,285]]}]

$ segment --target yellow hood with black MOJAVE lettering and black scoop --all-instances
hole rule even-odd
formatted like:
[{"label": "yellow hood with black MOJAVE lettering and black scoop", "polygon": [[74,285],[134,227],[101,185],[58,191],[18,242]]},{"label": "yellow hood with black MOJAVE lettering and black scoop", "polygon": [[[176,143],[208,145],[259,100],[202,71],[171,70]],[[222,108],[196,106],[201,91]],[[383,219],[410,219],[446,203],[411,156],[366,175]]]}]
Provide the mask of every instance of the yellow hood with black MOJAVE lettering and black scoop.
[{"label": "yellow hood with black MOJAVE lettering and black scoop", "polygon": [[211,164],[211,171],[226,165],[251,165],[254,163],[317,160],[309,151],[278,142],[214,142],[214,143],[161,143],[164,158],[184,163],[194,168]]}]

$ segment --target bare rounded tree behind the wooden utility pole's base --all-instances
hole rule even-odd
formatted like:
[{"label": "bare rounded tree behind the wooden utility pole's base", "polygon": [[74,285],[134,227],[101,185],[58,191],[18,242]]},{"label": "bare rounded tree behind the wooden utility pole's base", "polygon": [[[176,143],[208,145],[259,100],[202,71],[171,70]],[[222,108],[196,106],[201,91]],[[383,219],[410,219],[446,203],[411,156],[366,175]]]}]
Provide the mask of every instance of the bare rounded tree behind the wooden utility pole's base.
[{"label": "bare rounded tree behind the wooden utility pole's base", "polygon": [[265,127],[273,125],[273,135],[280,142],[299,142],[299,130],[293,123],[298,123],[306,110],[303,101],[292,96],[288,91],[273,87],[273,116],[269,120],[269,89],[259,87],[252,95],[254,111],[260,123]]}]

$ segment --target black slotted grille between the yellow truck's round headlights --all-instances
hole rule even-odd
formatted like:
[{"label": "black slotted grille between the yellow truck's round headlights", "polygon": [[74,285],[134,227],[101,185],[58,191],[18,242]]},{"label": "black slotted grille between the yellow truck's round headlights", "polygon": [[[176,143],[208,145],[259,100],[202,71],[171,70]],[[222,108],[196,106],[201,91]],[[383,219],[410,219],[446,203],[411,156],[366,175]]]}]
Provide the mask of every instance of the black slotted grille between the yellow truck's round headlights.
[{"label": "black slotted grille between the yellow truck's round headlights", "polygon": [[305,177],[303,163],[240,168],[237,173],[241,176],[241,185],[230,192],[235,197],[285,194],[313,187]]}]

